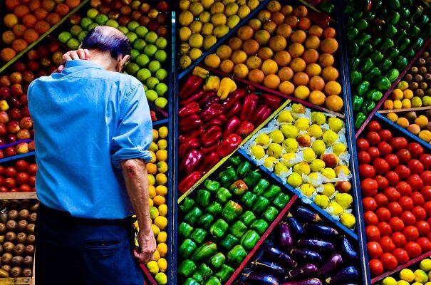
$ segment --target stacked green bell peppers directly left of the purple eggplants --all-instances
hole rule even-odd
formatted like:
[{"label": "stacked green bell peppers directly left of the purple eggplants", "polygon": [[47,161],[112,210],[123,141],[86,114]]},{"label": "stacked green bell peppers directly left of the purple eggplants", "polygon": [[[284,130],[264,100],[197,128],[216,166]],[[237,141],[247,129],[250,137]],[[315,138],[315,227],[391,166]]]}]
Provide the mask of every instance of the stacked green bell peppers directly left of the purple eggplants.
[{"label": "stacked green bell peppers directly left of the purple eggplants", "polygon": [[185,285],[226,282],[290,199],[240,156],[191,195],[178,227]]}]

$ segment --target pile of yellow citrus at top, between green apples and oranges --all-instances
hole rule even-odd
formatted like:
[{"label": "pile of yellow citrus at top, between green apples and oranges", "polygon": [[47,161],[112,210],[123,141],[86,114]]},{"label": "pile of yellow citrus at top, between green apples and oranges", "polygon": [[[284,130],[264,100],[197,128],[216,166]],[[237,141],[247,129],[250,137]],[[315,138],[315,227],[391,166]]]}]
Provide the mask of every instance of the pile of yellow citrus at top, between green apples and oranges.
[{"label": "pile of yellow citrus at top, between green apples and oranges", "polygon": [[181,0],[180,68],[190,66],[257,6],[259,0]]}]

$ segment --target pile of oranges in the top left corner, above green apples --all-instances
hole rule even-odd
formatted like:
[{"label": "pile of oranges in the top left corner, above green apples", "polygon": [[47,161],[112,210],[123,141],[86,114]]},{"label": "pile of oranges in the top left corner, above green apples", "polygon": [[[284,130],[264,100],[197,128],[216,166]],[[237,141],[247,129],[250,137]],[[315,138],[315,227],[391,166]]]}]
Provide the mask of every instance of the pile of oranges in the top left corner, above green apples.
[{"label": "pile of oranges in the top left corner, above green apples", "polygon": [[4,16],[3,21],[7,30],[1,34],[1,40],[6,47],[0,51],[1,61],[10,61],[16,53],[36,41],[80,2],[80,0],[6,0],[8,14]]}]

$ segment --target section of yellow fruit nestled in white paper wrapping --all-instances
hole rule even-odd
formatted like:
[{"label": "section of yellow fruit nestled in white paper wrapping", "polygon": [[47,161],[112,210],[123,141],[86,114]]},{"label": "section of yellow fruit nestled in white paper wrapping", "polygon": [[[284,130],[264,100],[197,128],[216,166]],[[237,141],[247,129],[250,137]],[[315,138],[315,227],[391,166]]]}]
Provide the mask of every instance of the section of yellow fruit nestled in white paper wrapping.
[{"label": "section of yellow fruit nestled in white paper wrapping", "polygon": [[243,148],[303,199],[351,229],[355,217],[350,214],[353,197],[345,133],[341,119],[292,104]]}]

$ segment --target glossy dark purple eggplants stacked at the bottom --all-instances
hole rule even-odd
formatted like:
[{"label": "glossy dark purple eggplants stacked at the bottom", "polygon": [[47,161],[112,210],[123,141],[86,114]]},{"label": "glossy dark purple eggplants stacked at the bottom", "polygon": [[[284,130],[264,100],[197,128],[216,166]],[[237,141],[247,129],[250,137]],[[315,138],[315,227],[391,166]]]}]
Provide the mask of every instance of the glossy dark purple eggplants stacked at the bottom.
[{"label": "glossy dark purple eggplants stacked at the bottom", "polygon": [[235,284],[358,284],[358,254],[348,239],[308,207],[293,207]]}]

